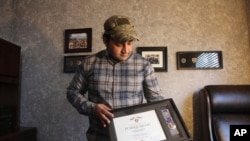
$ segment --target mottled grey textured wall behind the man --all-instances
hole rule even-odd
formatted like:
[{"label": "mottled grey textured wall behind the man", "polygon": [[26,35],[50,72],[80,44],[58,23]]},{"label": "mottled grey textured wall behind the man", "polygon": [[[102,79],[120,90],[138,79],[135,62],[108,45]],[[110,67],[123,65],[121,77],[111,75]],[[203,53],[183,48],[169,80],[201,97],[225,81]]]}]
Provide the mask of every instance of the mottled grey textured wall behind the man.
[{"label": "mottled grey textured wall behind the man", "polygon": [[[88,120],[65,98],[73,74],[63,73],[64,30],[93,29],[93,51],[104,20],[131,16],[138,46],[167,46],[168,72],[157,73],[192,133],[192,96],[208,84],[250,83],[245,0],[2,0],[0,37],[22,46],[21,125],[39,141],[85,140]],[[222,50],[221,70],[177,70],[177,51]],[[77,54],[79,55],[79,54]]]}]

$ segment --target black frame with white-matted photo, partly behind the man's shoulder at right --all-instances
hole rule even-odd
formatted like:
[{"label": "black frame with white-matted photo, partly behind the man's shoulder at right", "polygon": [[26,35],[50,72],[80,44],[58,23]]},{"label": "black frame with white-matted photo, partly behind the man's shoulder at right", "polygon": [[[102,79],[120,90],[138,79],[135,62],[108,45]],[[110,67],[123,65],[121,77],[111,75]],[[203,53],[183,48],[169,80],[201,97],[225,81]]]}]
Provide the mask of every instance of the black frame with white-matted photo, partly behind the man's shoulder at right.
[{"label": "black frame with white-matted photo, partly behind the man's shoulder at right", "polygon": [[137,53],[149,60],[156,72],[167,72],[167,47],[137,47]]}]

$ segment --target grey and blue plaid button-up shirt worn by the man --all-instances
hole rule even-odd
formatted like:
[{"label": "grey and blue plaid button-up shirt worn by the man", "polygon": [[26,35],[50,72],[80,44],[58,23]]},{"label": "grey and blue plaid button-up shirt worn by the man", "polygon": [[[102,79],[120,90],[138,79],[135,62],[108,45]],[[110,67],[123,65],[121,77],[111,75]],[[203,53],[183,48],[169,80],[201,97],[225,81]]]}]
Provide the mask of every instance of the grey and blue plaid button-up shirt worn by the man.
[{"label": "grey and blue plaid button-up shirt worn by the man", "polygon": [[112,109],[163,99],[154,69],[139,54],[116,62],[103,50],[86,57],[67,89],[68,101],[79,113],[89,116],[89,141],[108,141],[108,131],[94,116],[96,103]]}]

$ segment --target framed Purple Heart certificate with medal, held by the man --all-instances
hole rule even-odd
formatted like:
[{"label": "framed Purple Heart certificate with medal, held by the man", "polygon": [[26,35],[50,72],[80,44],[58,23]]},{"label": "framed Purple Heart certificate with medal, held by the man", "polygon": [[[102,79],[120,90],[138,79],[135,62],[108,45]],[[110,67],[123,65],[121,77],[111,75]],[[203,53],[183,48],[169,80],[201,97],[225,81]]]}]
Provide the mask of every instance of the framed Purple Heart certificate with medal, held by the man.
[{"label": "framed Purple Heart certificate with medal, held by the man", "polygon": [[173,99],[112,110],[111,141],[190,141]]}]

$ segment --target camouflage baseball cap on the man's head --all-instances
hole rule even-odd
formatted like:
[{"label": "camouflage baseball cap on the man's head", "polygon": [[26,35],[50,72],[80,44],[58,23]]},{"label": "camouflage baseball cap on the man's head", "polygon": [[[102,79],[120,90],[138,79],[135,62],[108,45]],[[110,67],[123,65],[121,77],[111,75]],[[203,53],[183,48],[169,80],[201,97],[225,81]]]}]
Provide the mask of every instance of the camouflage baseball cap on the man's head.
[{"label": "camouflage baseball cap on the man's head", "polygon": [[104,23],[104,34],[110,35],[110,37],[120,43],[138,40],[137,34],[134,29],[134,25],[131,20],[122,15],[114,15],[108,18]]}]

